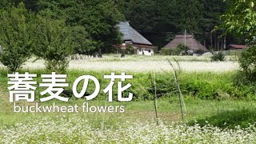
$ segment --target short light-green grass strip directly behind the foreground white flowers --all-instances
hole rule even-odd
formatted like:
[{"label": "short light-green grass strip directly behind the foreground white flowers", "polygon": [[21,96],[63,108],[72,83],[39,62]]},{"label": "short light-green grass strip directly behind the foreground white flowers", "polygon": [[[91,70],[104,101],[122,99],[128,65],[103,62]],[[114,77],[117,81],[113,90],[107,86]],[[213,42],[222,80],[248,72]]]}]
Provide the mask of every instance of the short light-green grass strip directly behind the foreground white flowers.
[{"label": "short light-green grass strip directly behind the foreground white flowers", "polygon": [[[12,103],[5,103],[0,107],[0,126],[14,126],[17,122],[26,122],[27,119],[52,118],[58,120],[56,116],[73,117],[80,115],[86,118],[92,126],[101,127],[102,122],[106,126],[118,126],[120,122],[155,122],[154,102],[107,102],[90,101],[89,106],[125,106],[124,113],[83,113],[82,103],[86,101],[78,100],[71,102],[56,102],[58,106],[74,106],[77,104],[78,113],[14,113]],[[256,122],[256,102],[245,100],[201,100],[198,98],[186,98],[186,122],[191,126],[198,123],[201,126],[211,124],[222,128],[232,128],[235,126],[248,127],[249,123]],[[25,103],[20,103],[25,106]],[[34,104],[28,104],[32,106]],[[42,103],[43,106],[51,106],[53,102]],[[171,122],[182,122],[178,98],[161,98],[158,100],[158,116],[166,124]],[[197,122],[194,122],[197,121]],[[208,121],[208,123],[206,123]]]}]

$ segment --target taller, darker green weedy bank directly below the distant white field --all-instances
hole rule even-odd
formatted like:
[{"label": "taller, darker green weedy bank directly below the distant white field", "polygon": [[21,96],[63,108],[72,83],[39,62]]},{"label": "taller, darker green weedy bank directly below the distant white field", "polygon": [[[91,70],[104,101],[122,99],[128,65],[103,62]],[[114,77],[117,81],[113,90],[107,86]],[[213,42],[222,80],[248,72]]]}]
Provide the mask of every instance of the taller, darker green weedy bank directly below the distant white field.
[{"label": "taller, darker green weedy bank directly below the distant white field", "polygon": [[[43,74],[47,71],[31,71],[31,73]],[[4,71],[3,74],[6,74]],[[66,90],[72,90],[72,84],[76,78],[84,74],[90,74],[98,78],[101,82],[100,94],[96,98],[97,100],[105,100],[106,94],[103,90],[108,86],[109,81],[104,79],[104,75],[111,74],[111,71],[80,71],[80,70],[70,70],[67,71],[68,78],[66,82],[70,83],[70,86]],[[121,74],[116,72],[116,74]],[[131,73],[126,74],[134,75],[133,79],[126,79],[123,82],[125,86],[128,82],[132,86],[125,91],[125,95],[128,92],[134,94],[134,101],[137,100],[153,100],[154,98],[154,85],[152,84],[153,77],[152,73]],[[250,99],[256,100],[256,91],[254,89],[254,84],[248,85],[236,85],[234,83],[234,78],[236,73],[180,73],[178,74],[178,82],[180,84],[182,94],[188,98],[200,98],[200,99]],[[156,74],[157,83],[157,94],[158,98],[177,98],[178,92],[174,83],[174,78],[172,73],[157,73]],[[82,82],[78,84],[78,90],[82,90]],[[92,94],[94,92],[94,83],[90,82],[87,88],[87,94]],[[117,95],[117,82],[114,84],[113,95]],[[38,94],[38,92],[36,92]],[[114,101],[117,97],[113,97]]]}]

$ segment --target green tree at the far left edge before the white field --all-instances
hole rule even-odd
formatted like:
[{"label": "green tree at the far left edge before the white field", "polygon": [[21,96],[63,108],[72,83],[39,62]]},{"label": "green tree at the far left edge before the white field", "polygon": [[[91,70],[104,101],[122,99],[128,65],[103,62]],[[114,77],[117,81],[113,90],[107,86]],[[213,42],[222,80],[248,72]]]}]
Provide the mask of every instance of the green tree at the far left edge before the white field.
[{"label": "green tree at the far left edge before the white field", "polygon": [[31,17],[23,3],[0,10],[0,61],[16,71],[32,53]]}]

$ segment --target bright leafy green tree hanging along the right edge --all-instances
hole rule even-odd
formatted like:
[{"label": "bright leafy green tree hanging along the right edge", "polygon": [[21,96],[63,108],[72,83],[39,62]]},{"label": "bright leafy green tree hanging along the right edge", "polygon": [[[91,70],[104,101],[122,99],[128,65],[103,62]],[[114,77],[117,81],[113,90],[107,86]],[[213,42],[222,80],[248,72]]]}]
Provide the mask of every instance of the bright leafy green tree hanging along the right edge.
[{"label": "bright leafy green tree hanging along the right edge", "polygon": [[256,81],[256,6],[254,0],[227,0],[229,10],[222,16],[224,24],[216,29],[226,30],[238,37],[245,37],[249,50],[245,50],[239,58],[240,66],[246,77]]}]

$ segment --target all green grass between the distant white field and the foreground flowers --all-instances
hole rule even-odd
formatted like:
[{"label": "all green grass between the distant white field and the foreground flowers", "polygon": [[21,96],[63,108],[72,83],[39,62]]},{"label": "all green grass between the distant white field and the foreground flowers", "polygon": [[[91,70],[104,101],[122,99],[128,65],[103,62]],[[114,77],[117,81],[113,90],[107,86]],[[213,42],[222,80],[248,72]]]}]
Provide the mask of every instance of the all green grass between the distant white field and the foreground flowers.
[{"label": "all green grass between the distant white field and the foreground flowers", "polygon": [[[21,70],[20,73],[24,73],[27,70]],[[101,92],[97,98],[89,101],[90,105],[104,106],[106,100],[106,94],[103,94],[102,90],[109,84],[109,79],[104,79],[103,76],[110,74],[112,71],[81,71],[70,70],[67,72],[68,76],[66,81],[70,83],[70,86],[66,90],[71,90],[72,84],[76,78],[82,75],[90,74],[98,78],[101,83]],[[66,117],[72,117],[74,114],[62,114],[62,113],[47,113],[47,114],[23,114],[13,113],[13,104],[8,102],[9,97],[7,90],[8,78],[6,70],[0,70],[0,88],[1,88],[1,106],[0,106],[0,126],[11,126],[17,122],[24,122],[27,118],[54,118],[56,115],[65,115]],[[38,74],[38,78],[35,80],[42,82],[40,78],[41,74],[50,74],[47,70],[30,70],[30,74]],[[116,74],[121,74],[120,71],[116,71]],[[114,102],[107,102],[107,105],[113,106],[126,106],[126,112],[121,114],[81,114],[82,117],[86,117],[94,126],[101,126],[102,120],[109,126],[115,126],[118,122],[132,121],[150,121],[154,120],[154,85],[152,83],[152,74],[147,73],[134,73],[126,72],[126,74],[134,75],[134,79],[127,79],[124,85],[130,82],[133,86],[130,87],[128,92],[134,94],[132,102],[118,102],[117,101],[117,86],[114,86]],[[214,126],[234,128],[234,126],[248,126],[249,122],[256,122],[256,102],[255,102],[255,85],[254,83],[246,85],[236,85],[234,79],[236,72],[229,73],[179,73],[178,82],[181,86],[182,94],[185,96],[186,102],[186,122],[191,125],[194,124],[194,120],[197,120],[199,124],[205,125],[206,121]],[[157,94],[158,94],[158,113],[159,118],[164,122],[181,121],[180,108],[178,104],[178,94],[174,85],[173,75],[169,72],[156,74]],[[38,87],[38,86],[37,86]],[[78,89],[82,88],[82,82],[79,84]],[[43,88],[36,90],[37,101],[39,98],[39,92]],[[93,83],[90,83],[88,87],[88,94],[94,91]],[[63,95],[65,96],[65,95]],[[40,96],[42,97],[42,96]],[[54,100],[56,101],[56,100]],[[57,100],[58,101],[58,100]],[[71,95],[70,102],[57,102],[59,106],[66,105],[82,105],[86,102],[84,98],[74,98]],[[51,105],[50,102],[42,102],[42,105]],[[226,124],[224,125],[224,123]]]}]

